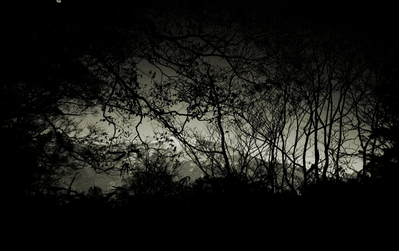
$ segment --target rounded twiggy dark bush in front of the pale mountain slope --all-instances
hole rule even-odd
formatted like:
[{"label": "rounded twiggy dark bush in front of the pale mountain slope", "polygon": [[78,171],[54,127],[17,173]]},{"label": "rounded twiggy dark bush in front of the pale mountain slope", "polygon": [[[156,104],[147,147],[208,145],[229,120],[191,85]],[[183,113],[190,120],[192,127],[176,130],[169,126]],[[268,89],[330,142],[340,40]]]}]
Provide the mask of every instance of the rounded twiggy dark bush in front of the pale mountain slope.
[{"label": "rounded twiggy dark bush in front of the pale mountain slope", "polygon": [[160,139],[158,146],[146,147],[133,157],[124,185],[117,188],[117,203],[145,207],[159,202],[172,205],[178,199],[183,185],[178,181],[181,163],[179,153],[167,147],[171,142],[168,138]]}]

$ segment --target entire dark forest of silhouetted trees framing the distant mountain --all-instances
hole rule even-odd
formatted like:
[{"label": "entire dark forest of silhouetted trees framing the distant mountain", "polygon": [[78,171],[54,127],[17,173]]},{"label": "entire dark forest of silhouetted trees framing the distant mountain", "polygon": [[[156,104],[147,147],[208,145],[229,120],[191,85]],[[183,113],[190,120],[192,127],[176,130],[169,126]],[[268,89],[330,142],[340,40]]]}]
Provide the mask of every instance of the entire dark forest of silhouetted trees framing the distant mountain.
[{"label": "entire dark forest of silhouetted trees framing the distant mountain", "polygon": [[[10,210],[314,219],[396,210],[389,13],[251,0],[76,4],[24,5],[6,30]],[[179,172],[184,161],[201,176]],[[76,191],[71,174],[83,168],[127,178]]]}]

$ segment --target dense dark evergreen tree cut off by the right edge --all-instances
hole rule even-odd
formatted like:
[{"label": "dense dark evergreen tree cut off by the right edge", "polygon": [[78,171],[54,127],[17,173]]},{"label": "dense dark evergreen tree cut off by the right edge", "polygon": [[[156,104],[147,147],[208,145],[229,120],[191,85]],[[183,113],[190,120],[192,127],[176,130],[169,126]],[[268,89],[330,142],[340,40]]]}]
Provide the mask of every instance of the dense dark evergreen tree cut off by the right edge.
[{"label": "dense dark evergreen tree cut off by the right edge", "polygon": [[[398,85],[398,65],[396,63],[397,53],[388,57],[381,64],[381,80],[377,85],[376,99],[379,100],[378,111],[380,123],[375,123],[370,129],[369,141],[373,141],[373,148],[379,151],[363,151],[367,156],[368,163],[365,171],[369,170],[371,185],[389,198],[398,192],[396,177],[398,177],[398,95],[392,92],[393,86]],[[375,144],[375,142],[377,144]],[[368,177],[364,175],[363,180]],[[368,182],[367,182],[368,183]]]}]

